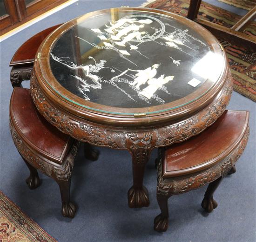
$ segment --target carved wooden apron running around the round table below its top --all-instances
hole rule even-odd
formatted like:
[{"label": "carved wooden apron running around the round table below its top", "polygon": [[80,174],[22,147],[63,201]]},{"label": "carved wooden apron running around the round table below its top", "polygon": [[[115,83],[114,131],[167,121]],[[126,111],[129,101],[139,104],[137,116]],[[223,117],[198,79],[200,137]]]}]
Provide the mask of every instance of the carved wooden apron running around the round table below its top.
[{"label": "carved wooden apron running around the round table below its top", "polygon": [[[152,148],[159,146],[167,146],[195,136],[213,124],[221,116],[229,103],[232,92],[231,78],[231,73],[229,72],[225,87],[214,103],[208,105],[188,120],[165,127],[148,128],[148,131],[136,129],[137,131],[133,132],[129,132],[125,128],[117,129],[110,126],[108,126],[108,129],[105,129],[103,124],[95,124],[86,120],[83,122],[75,120],[75,117],[73,118],[72,115],[66,114],[64,111],[58,110],[51,105],[40,90],[34,74],[31,77],[30,90],[37,109],[48,122],[56,126],[61,132],[90,144],[109,146],[115,149],[135,149],[136,151],[132,151],[134,153],[133,155],[144,160],[148,154],[144,154],[142,150],[140,151],[140,145],[145,145],[146,150],[152,150]],[[141,138],[141,135],[143,138]],[[131,137],[134,137],[135,140]],[[146,141],[145,138],[148,140]],[[138,144],[139,141],[141,142],[140,145]],[[140,146],[139,149],[136,148],[136,145]]]}]

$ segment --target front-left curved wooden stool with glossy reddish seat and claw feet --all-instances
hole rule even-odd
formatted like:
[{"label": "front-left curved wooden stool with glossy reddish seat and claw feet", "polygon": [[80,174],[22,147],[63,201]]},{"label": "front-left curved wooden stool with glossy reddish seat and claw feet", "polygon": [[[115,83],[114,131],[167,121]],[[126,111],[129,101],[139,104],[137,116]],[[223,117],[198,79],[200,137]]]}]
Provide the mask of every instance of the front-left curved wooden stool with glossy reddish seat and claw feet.
[{"label": "front-left curved wooden stool with glossy reddish seat and claw feet", "polygon": [[35,189],[40,185],[36,169],[52,177],[60,187],[62,215],[73,218],[75,206],[70,201],[69,190],[80,142],[58,131],[39,114],[29,89],[13,89],[9,124],[13,142],[30,170],[28,187]]}]

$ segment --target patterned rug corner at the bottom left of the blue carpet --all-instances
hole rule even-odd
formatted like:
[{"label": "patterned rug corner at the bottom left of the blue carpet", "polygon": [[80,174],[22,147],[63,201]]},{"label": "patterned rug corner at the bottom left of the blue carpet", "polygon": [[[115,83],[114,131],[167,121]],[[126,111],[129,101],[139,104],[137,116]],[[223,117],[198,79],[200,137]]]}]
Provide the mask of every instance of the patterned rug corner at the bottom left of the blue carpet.
[{"label": "patterned rug corner at the bottom left of the blue carpet", "polygon": [[57,242],[0,191],[0,242]]}]

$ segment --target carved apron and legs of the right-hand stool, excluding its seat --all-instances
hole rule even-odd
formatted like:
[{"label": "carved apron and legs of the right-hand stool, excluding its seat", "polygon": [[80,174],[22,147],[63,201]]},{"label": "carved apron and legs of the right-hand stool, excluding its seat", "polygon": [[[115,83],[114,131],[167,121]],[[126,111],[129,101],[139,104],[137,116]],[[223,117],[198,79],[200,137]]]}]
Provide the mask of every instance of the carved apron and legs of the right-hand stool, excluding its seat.
[{"label": "carved apron and legs of the right-hand stool, excluding its seat", "polygon": [[[190,190],[198,189],[199,187],[209,183],[202,201],[202,207],[208,212],[215,209],[217,207],[217,203],[213,199],[213,193],[222,181],[222,178],[228,174],[230,169],[234,167],[237,159],[242,155],[248,141],[248,136],[249,127],[247,127],[244,136],[236,149],[233,150],[229,156],[225,157],[219,164],[216,164],[208,170],[184,177],[172,177],[166,179],[162,177],[163,150],[158,149],[159,163],[157,166],[157,199],[162,213],[155,218],[154,229],[157,231],[165,231],[168,228],[168,220],[166,219],[168,216],[168,196],[189,192]],[[158,194],[161,194],[161,196]],[[166,198],[163,197],[164,195]]]}]

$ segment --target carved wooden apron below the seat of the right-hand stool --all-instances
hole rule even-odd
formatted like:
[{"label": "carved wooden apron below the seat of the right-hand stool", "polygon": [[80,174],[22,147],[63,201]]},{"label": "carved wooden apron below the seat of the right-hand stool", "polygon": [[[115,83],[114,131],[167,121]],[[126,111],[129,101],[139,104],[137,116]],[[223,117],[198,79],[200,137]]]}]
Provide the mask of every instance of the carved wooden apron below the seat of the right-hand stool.
[{"label": "carved wooden apron below the seat of the right-hand stool", "polygon": [[207,183],[211,183],[221,176],[226,176],[229,170],[236,163],[237,159],[242,155],[243,150],[247,144],[248,137],[249,127],[247,127],[247,130],[240,144],[229,154],[228,157],[224,158],[216,166],[192,176],[163,179],[162,160],[160,159],[160,162],[158,163],[157,192],[166,196],[180,194],[197,189]]}]

